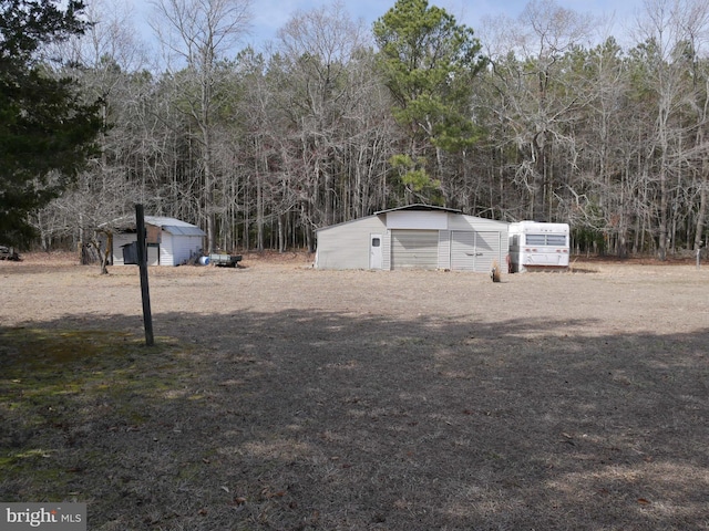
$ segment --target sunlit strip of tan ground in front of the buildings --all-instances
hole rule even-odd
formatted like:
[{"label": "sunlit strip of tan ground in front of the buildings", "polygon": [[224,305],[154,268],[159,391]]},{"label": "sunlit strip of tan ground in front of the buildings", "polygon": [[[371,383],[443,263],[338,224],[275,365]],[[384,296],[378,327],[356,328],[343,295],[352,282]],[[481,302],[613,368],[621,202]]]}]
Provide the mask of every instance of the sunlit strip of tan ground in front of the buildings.
[{"label": "sunlit strip of tan ground in front of the buildings", "polygon": [[[574,261],[568,273],[320,271],[305,253],[246,256],[237,270],[150,268],[156,334],[182,336],[173,314],[337,312],[387,319],[546,323],[544,333],[684,333],[708,324],[709,264]],[[79,267],[71,256],[0,262],[4,325],[130,317],[142,323],[138,269]],[[161,319],[166,315],[167,319]],[[219,336],[210,337],[219,341]]]}]

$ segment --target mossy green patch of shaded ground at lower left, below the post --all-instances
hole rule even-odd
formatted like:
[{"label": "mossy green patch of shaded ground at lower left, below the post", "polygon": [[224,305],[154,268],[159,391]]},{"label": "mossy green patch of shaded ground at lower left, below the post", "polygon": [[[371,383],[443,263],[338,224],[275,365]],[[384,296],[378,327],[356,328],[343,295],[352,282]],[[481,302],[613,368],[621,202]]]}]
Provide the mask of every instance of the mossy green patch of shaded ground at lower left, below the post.
[{"label": "mossy green patch of shaded ground at lower left, below the post", "polygon": [[187,352],[115,331],[0,329],[0,499],[81,497],[82,471],[117,459],[102,444],[161,417]]}]

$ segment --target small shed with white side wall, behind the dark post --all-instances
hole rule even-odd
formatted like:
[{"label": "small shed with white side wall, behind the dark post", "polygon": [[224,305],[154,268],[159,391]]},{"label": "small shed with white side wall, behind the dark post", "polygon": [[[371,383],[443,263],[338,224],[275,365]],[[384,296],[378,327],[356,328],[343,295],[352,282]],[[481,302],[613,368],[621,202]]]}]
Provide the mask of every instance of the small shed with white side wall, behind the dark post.
[{"label": "small shed with white side wall, behind the dark post", "polygon": [[[135,217],[112,223],[112,263],[123,266],[123,247],[137,240]],[[201,254],[205,232],[197,226],[175,218],[145,216],[148,266],[179,266],[193,254]]]}]

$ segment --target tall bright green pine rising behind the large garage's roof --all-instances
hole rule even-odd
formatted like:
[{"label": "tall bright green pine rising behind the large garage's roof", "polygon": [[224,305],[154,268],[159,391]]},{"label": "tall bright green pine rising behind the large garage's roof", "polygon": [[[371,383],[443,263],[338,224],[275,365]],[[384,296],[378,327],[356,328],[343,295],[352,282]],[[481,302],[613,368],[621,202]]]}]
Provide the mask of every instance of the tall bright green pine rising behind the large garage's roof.
[{"label": "tall bright green pine rising behind the large garage's roof", "polygon": [[430,199],[444,177],[443,152],[463,150],[480,136],[471,97],[472,81],[486,64],[481,44],[472,29],[428,0],[398,0],[373,32],[392,112],[410,143],[392,166],[409,168],[401,175],[407,190]]}]

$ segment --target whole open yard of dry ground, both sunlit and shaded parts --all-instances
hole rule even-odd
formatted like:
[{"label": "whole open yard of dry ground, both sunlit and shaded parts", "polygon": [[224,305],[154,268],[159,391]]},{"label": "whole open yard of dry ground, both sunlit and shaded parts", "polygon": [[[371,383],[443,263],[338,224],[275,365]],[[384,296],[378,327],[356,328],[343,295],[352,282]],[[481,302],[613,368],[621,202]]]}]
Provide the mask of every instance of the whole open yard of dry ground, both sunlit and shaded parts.
[{"label": "whole open yard of dry ground, both sunlit and shaded parts", "polygon": [[0,262],[0,500],[90,530],[709,530],[709,264]]}]

